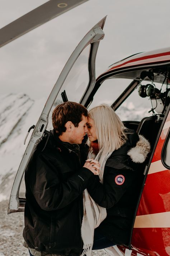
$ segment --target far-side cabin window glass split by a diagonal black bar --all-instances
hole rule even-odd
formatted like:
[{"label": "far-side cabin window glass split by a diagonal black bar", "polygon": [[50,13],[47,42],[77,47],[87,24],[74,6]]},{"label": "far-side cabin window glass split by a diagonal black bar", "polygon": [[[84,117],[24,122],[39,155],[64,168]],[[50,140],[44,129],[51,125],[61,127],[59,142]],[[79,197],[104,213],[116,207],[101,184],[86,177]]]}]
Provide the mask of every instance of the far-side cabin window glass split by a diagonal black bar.
[{"label": "far-side cabin window glass split by a diagonal black bar", "polygon": [[[132,81],[132,79],[114,77],[104,80],[96,91],[93,102],[88,109],[90,110],[103,103],[112,105]],[[149,83],[148,81],[142,81],[142,85]],[[161,84],[155,83],[155,86],[160,89]],[[136,88],[115,112],[122,121],[141,121],[143,117],[152,116],[152,111],[150,111],[152,107],[155,106],[150,98],[141,98],[138,95],[138,88]]]}]

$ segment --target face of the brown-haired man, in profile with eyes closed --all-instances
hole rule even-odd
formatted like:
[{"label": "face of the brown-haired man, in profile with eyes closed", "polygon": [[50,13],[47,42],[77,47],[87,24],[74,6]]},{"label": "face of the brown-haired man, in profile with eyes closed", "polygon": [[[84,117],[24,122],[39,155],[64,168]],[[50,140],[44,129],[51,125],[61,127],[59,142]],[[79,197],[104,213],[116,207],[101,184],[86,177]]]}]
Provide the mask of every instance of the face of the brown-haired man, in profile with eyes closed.
[{"label": "face of the brown-haired man, in profile with eyes closed", "polygon": [[84,139],[85,134],[88,132],[87,122],[88,118],[82,115],[82,121],[79,123],[78,127],[74,124],[71,126],[70,143],[81,144]]}]

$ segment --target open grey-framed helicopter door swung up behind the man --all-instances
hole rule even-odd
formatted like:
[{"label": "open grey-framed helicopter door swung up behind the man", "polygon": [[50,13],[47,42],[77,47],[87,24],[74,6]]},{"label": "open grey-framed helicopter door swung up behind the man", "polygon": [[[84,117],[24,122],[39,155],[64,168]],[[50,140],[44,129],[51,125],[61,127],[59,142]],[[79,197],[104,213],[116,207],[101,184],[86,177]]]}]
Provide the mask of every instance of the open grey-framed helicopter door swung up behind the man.
[{"label": "open grey-framed helicopter door swung up behind the man", "polygon": [[[23,178],[23,174],[25,169],[27,168],[28,162],[36,149],[38,143],[42,140],[44,133],[46,132],[46,128],[48,125],[48,116],[53,103],[55,102],[57,95],[60,93],[61,89],[63,88],[62,85],[66,80],[72,66],[76,62],[77,58],[81,54],[81,52],[90,45],[90,53],[89,53],[89,60],[88,60],[88,72],[89,72],[89,83],[83,86],[83,95],[89,96],[91,91],[93,90],[95,84],[95,58],[96,53],[98,50],[99,42],[104,37],[103,27],[105,23],[106,17],[101,19],[91,30],[84,36],[84,38],[80,41],[77,45],[76,49],[71,54],[70,58],[68,59],[67,63],[65,64],[60,76],[56,84],[54,85],[47,102],[44,106],[44,109],[41,113],[41,116],[38,119],[36,126],[34,127],[33,133],[30,137],[29,143],[23,155],[22,161],[19,165],[18,172],[15,176],[14,184],[11,190],[9,205],[8,205],[8,214],[12,212],[24,211],[24,204],[25,198],[19,198],[19,189],[20,184]],[[82,88],[81,88],[82,89]],[[63,89],[64,90],[64,89]],[[82,95],[82,91],[81,91]],[[67,97],[64,94],[62,96],[64,101],[67,101]],[[79,100],[82,103],[84,96]]]}]

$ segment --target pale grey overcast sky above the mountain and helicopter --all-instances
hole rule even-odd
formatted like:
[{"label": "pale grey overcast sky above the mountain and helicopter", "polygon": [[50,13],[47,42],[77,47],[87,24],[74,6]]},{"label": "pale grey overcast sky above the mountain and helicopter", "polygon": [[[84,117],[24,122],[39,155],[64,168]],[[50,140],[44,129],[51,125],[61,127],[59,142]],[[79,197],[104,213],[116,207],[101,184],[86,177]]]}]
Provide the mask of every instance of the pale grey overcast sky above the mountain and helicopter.
[{"label": "pale grey overcast sky above the mountain and helicopter", "polygon": [[[1,0],[0,28],[45,2]],[[105,15],[96,76],[134,53],[169,47],[169,10],[169,0],[89,0],[0,48],[1,94],[47,98],[76,45]]]}]

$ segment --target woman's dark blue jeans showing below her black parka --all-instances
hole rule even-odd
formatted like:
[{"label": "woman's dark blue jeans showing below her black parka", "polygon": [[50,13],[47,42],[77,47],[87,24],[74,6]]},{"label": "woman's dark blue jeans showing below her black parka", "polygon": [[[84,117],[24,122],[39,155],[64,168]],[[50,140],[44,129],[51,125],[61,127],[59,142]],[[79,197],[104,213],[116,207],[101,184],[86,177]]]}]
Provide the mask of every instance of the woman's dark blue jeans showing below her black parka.
[{"label": "woman's dark blue jeans showing below her black parka", "polygon": [[94,241],[92,250],[100,250],[115,245],[98,230],[94,230]]}]

